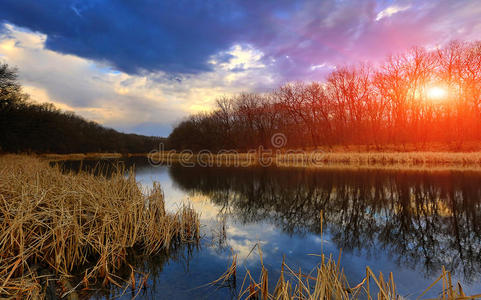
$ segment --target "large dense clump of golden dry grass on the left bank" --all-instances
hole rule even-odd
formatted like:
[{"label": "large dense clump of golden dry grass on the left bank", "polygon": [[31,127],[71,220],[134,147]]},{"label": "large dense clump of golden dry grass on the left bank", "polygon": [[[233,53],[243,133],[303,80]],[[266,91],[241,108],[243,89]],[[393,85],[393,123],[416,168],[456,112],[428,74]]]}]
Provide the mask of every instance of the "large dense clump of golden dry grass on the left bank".
[{"label": "large dense clump of golden dry grass on the left bank", "polygon": [[155,254],[199,239],[198,215],[164,209],[158,184],[145,192],[130,172],[107,177],[62,173],[34,157],[0,156],[0,297],[45,296],[45,280],[72,293],[83,285],[119,285],[128,251]]}]

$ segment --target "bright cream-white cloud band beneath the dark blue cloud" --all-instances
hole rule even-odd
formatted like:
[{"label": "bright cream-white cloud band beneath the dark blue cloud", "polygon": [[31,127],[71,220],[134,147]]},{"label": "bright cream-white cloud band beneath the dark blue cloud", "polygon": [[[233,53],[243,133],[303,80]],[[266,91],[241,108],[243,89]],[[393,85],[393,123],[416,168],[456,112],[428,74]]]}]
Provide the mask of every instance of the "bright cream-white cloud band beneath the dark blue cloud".
[{"label": "bright cream-white cloud band beneath the dark blue cloud", "polygon": [[[44,34],[5,25],[0,61],[16,66],[24,90],[83,117],[126,132],[168,135],[182,117],[209,110],[215,99],[274,82],[263,54],[235,45],[211,56],[211,72],[130,75],[106,64],[45,48]],[[227,58],[226,58],[227,57]]]}]

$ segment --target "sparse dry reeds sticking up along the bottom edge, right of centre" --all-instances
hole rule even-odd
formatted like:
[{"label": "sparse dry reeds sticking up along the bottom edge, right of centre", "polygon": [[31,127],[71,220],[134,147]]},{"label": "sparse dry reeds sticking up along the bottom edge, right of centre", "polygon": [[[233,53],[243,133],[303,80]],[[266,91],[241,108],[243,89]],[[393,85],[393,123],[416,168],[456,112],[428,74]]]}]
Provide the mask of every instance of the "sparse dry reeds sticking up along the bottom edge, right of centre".
[{"label": "sparse dry reeds sticking up along the bottom edge, right of centre", "polygon": [[[303,273],[300,269],[295,271],[283,260],[277,283],[271,289],[268,285],[268,270],[264,267],[262,261],[262,251],[258,245],[257,247],[261,262],[260,277],[255,279],[251,272],[246,270],[246,275],[237,296],[238,299],[404,299],[396,290],[392,273],[384,277],[384,274],[380,272],[376,276],[369,267],[366,267],[366,275],[361,282],[351,286],[340,264],[341,252],[337,261],[333,259],[332,255],[328,258],[324,254],[320,255],[321,262],[309,273]],[[235,280],[235,274],[237,273],[235,261],[236,256],[234,256],[232,265],[213,284],[217,284],[220,281]],[[233,276],[233,278],[230,276]],[[418,299],[423,297],[428,291],[439,286],[441,286],[441,289],[438,291],[436,299],[481,298],[481,294],[467,296],[459,282],[457,284],[452,283],[451,273],[443,267],[441,275],[421,293]]]}]

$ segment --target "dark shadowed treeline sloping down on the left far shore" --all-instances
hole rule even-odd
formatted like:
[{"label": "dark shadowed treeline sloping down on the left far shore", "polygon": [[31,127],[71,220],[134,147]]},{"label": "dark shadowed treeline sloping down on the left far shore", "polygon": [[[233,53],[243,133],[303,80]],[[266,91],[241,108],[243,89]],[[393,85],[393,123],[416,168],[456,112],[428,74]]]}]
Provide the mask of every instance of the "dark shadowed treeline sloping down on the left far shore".
[{"label": "dark shadowed treeline sloping down on the left far shore", "polygon": [[32,103],[22,93],[17,71],[0,64],[0,152],[145,153],[161,141],[105,128],[52,104]]}]

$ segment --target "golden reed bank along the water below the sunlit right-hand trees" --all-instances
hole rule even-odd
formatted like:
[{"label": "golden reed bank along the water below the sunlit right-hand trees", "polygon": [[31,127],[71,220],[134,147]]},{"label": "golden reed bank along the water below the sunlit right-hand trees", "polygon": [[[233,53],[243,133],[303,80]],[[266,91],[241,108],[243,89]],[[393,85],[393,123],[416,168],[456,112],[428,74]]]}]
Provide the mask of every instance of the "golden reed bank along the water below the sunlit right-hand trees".
[{"label": "golden reed bank along the water below the sunlit right-hand trees", "polygon": [[481,170],[481,152],[323,152],[270,151],[264,153],[189,154],[162,152],[154,162],[182,162],[205,166],[256,165],[312,168],[469,169]]}]

